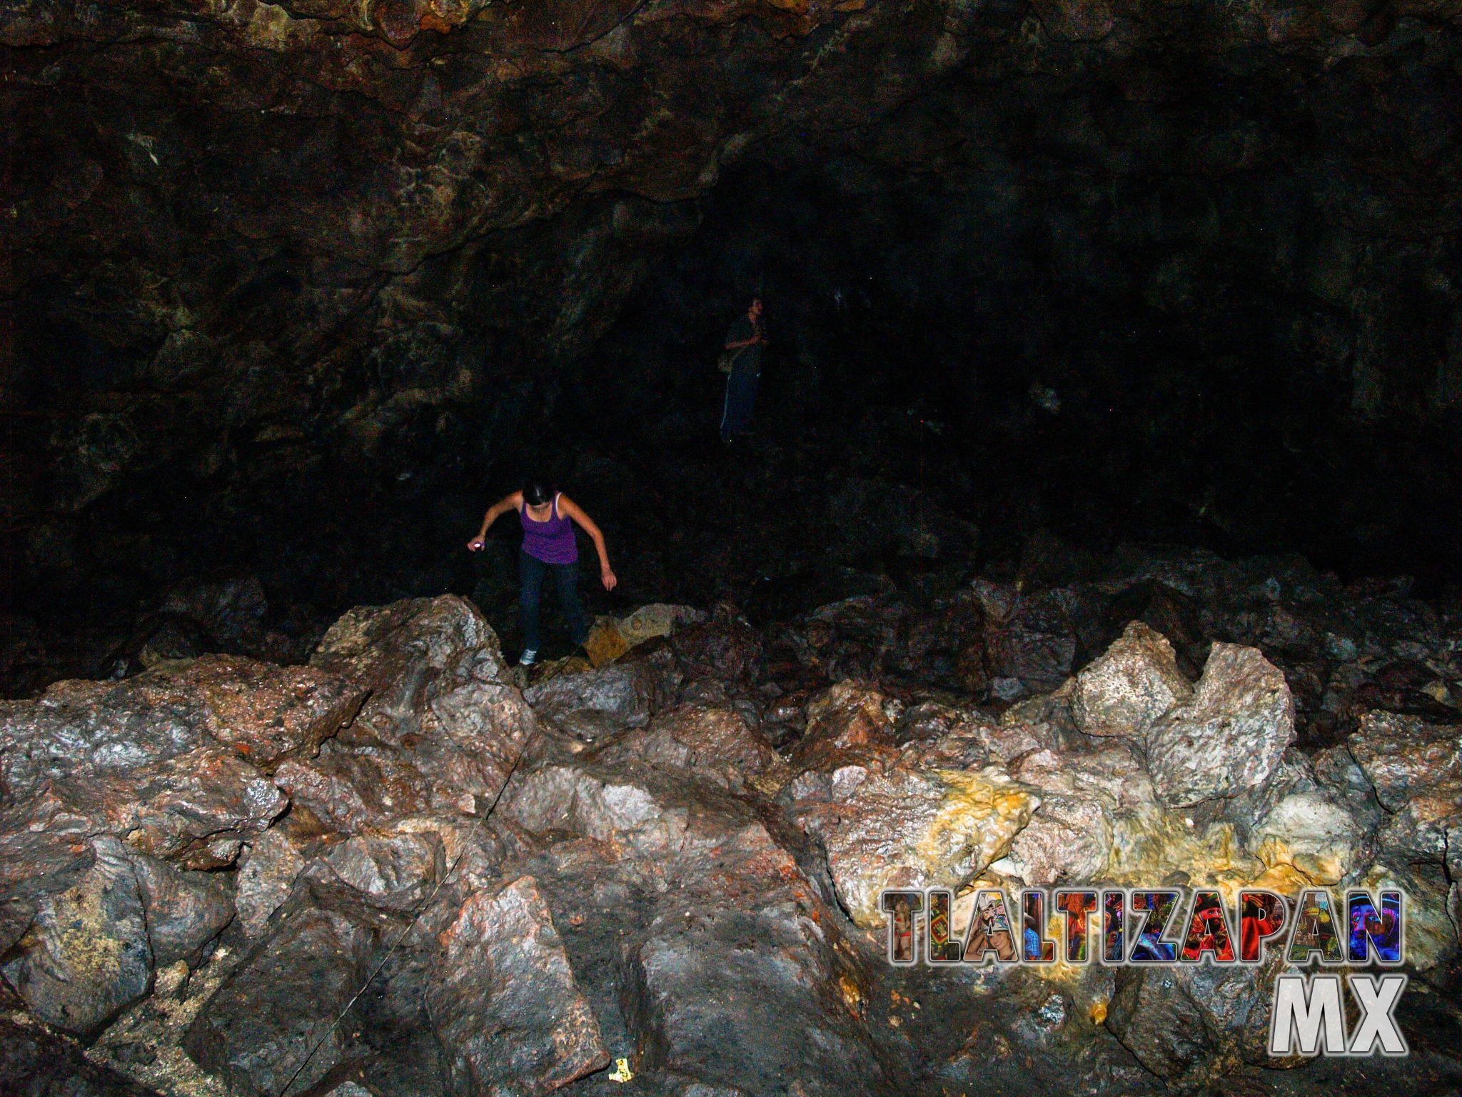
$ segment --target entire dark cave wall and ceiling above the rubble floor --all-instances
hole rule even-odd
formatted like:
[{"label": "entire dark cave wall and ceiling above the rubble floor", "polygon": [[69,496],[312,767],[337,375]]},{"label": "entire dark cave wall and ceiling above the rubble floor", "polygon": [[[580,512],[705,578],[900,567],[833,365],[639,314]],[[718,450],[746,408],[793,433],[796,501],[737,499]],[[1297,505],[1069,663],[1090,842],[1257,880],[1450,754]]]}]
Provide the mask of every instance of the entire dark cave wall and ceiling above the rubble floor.
[{"label": "entire dark cave wall and ceiling above the rubble floor", "polygon": [[[1456,20],[9,0],[7,632],[206,572],[301,651],[352,601],[501,601],[459,544],[528,467],[642,562],[626,604],[800,538],[958,569],[971,524],[1442,576]],[[709,360],[759,278],[769,436],[728,462]]]}]

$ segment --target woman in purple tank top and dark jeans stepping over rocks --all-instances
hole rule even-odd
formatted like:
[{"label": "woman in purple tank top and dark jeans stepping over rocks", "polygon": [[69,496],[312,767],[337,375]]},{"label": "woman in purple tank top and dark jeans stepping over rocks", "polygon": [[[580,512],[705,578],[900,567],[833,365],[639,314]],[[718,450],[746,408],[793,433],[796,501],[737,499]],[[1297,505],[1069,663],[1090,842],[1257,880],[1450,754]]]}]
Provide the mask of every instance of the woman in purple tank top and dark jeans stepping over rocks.
[{"label": "woman in purple tank top and dark jeans stepping over rocks", "polygon": [[538,598],[542,592],[544,575],[554,573],[558,587],[558,606],[569,622],[569,633],[575,646],[589,638],[589,626],[579,608],[579,546],[573,540],[573,524],[583,527],[594,548],[599,554],[599,581],[604,589],[613,591],[614,572],[610,570],[610,553],[604,547],[599,527],[561,491],[548,491],[542,484],[529,484],[522,491],[499,499],[482,518],[482,528],[468,541],[471,551],[481,551],[487,541],[488,527],[509,510],[518,510],[523,525],[523,548],[518,556],[519,606],[523,625],[523,655],[519,664],[529,667],[538,658]]}]

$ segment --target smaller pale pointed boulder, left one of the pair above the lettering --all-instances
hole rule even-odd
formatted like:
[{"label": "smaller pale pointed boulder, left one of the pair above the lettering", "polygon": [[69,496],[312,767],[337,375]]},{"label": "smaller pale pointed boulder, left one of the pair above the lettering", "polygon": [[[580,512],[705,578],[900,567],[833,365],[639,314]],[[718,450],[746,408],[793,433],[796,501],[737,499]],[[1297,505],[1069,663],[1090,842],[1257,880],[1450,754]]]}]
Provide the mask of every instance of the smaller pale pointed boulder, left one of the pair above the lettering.
[{"label": "smaller pale pointed boulder, left one of the pair above the lettering", "polygon": [[1167,638],[1132,622],[1121,639],[1076,676],[1072,717],[1089,736],[1140,740],[1158,717],[1192,693]]}]

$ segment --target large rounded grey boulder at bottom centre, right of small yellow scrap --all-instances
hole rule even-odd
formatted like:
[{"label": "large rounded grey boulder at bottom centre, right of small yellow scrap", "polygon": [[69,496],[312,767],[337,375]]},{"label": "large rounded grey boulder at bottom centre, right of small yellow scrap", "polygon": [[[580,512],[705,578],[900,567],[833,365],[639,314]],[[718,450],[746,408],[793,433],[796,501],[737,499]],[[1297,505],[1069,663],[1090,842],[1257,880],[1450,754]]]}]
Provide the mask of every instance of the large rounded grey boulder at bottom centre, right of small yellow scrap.
[{"label": "large rounded grey boulder at bottom centre, right of small yellow scrap", "polygon": [[556,847],[553,886],[583,876],[575,902],[629,923],[605,948],[624,965],[637,1071],[678,1079],[671,1093],[887,1088],[855,951],[816,859],[769,812],[683,772],[582,756],[528,772],[504,807],[535,834],[583,835]]}]

